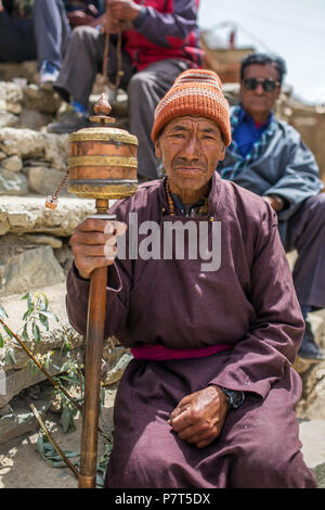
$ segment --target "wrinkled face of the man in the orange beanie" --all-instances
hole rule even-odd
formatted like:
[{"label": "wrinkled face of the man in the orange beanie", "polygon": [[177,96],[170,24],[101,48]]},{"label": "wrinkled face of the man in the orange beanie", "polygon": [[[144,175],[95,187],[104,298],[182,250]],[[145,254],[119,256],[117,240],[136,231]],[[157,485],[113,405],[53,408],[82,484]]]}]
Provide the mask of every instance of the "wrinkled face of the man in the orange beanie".
[{"label": "wrinkled face of the man in the orange beanie", "polygon": [[224,158],[220,128],[206,117],[186,115],[170,120],[157,140],[171,189],[199,190]]}]

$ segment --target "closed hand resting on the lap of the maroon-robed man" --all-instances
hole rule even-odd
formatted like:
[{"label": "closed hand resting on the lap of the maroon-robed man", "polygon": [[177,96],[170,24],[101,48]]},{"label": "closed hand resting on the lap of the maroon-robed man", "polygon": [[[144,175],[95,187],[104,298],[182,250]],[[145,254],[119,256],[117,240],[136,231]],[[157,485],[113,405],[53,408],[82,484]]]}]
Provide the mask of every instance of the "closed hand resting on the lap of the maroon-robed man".
[{"label": "closed hand resting on the lap of the maroon-robed man", "polygon": [[230,409],[225,398],[217,385],[185,396],[170,415],[172,430],[197,448],[208,446],[219,436]]}]

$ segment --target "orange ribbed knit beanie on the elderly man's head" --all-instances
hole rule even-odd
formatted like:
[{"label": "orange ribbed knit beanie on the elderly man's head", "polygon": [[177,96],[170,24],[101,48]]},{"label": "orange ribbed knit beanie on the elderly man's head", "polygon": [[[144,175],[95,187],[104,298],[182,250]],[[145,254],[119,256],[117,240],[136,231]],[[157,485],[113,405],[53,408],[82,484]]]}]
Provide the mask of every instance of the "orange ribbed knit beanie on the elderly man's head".
[{"label": "orange ribbed knit beanie on the elderly man's head", "polygon": [[172,118],[199,115],[214,120],[227,146],[232,138],[229,103],[221,87],[221,80],[213,71],[188,69],[180,74],[156,107],[153,141]]}]

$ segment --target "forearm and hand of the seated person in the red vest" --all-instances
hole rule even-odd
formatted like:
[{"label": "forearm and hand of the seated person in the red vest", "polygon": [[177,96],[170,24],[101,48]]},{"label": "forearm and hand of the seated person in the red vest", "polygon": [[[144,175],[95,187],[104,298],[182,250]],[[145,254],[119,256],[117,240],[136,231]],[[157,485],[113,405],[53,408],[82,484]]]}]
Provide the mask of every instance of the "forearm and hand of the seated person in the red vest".
[{"label": "forearm and hand of the seated person in the red vest", "polygon": [[188,34],[197,27],[196,0],[174,1],[172,13],[140,7],[132,0],[110,0],[109,9],[115,17],[132,21],[136,31],[165,48],[181,48]]}]

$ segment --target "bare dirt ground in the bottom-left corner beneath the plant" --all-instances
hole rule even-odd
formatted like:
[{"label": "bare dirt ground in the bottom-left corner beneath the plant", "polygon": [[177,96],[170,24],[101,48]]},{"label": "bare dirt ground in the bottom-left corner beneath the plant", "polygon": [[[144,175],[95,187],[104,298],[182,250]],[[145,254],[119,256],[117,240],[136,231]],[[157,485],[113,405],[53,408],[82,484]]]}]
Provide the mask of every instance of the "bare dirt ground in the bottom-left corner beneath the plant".
[{"label": "bare dirt ground in the bottom-left corner beneath the plant", "polygon": [[[105,391],[103,420],[108,430],[113,428],[113,405],[116,387]],[[60,415],[48,412],[44,423],[61,449],[80,451],[82,418],[76,420],[76,430],[63,432]],[[105,429],[107,430],[107,429]],[[69,468],[53,468],[37,451],[40,428],[0,445],[0,488],[77,488],[78,482]],[[99,437],[99,457],[104,442]]]}]

